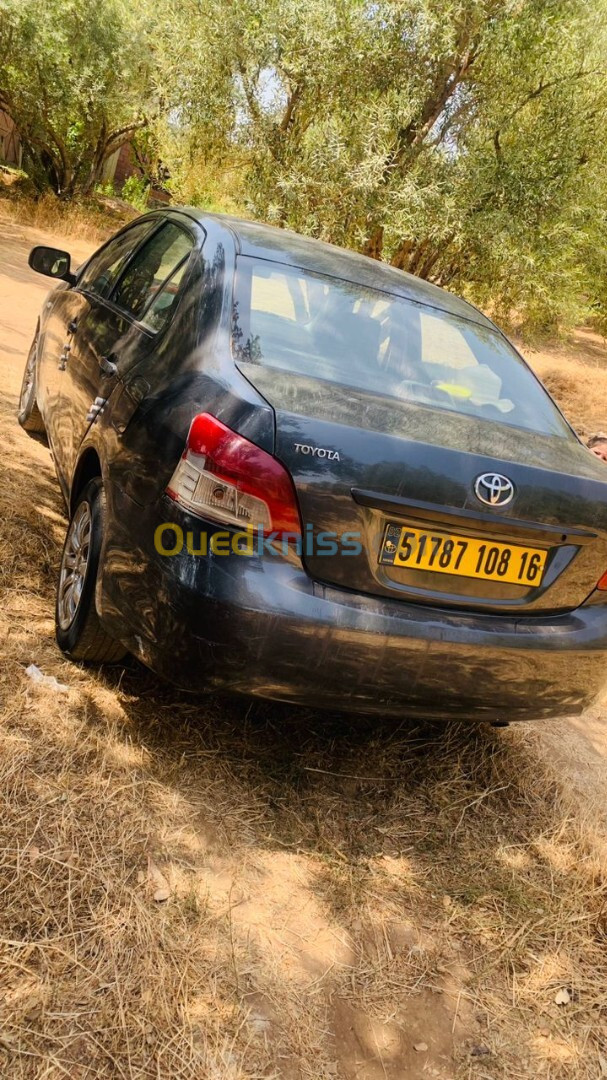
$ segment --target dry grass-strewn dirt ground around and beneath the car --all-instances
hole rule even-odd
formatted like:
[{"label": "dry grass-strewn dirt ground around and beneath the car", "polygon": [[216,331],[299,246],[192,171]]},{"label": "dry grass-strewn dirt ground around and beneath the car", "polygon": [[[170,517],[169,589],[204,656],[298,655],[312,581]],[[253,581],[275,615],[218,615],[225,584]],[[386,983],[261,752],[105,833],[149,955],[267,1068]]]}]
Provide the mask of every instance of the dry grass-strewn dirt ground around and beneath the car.
[{"label": "dry grass-strewn dirt ground around and beneath the car", "polygon": [[[15,419],[44,242],[90,251],[0,218],[0,1075],[607,1076],[603,706],[395,726],[60,657],[65,512]],[[530,360],[607,428],[601,340]]]}]

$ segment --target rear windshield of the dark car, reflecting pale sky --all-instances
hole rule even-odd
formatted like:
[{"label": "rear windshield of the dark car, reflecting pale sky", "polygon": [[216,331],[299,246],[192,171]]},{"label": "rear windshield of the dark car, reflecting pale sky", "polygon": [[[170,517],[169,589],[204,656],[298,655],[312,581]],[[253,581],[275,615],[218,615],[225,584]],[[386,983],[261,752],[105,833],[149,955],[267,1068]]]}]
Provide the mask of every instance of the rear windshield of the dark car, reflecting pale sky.
[{"label": "rear windshield of the dark car, reflecting pale sky", "polygon": [[567,435],[563,417],[489,327],[364,285],[240,256],[238,361]]}]

